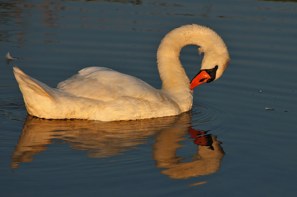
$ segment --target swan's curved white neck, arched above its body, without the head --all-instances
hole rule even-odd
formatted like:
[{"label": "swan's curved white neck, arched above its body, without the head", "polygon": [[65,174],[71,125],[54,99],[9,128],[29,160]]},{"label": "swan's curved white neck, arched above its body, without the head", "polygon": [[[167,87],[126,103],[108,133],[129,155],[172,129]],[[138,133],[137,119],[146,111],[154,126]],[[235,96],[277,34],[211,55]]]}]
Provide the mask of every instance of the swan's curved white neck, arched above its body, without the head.
[{"label": "swan's curved white neck, arched above its body, without the head", "polygon": [[[218,38],[217,38],[218,37]],[[181,48],[194,44],[200,46],[199,53],[214,50],[219,38],[217,33],[200,25],[185,25],[169,32],[161,41],[157,51],[158,70],[162,80],[162,90],[172,93],[189,91],[190,81],[179,60]],[[225,44],[224,44],[225,45]]]}]

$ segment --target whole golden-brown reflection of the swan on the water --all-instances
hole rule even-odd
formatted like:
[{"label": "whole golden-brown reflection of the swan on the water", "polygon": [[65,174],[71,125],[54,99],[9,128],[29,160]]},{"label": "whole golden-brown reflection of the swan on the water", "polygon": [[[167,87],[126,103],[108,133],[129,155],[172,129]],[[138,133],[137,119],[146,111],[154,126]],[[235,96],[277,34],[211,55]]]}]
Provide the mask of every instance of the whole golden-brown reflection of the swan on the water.
[{"label": "whole golden-brown reflection of the swan on the water", "polygon": [[[102,158],[123,154],[153,139],[152,156],[155,167],[170,178],[189,178],[219,170],[224,151],[221,142],[208,131],[191,127],[189,112],[177,116],[144,120],[101,122],[87,120],[44,120],[28,115],[22,135],[11,156],[11,168],[32,162],[33,156],[59,139],[74,150],[86,151],[89,157]],[[176,151],[181,141],[192,138],[198,145],[193,161],[182,162]],[[195,146],[194,146],[195,147]]]}]

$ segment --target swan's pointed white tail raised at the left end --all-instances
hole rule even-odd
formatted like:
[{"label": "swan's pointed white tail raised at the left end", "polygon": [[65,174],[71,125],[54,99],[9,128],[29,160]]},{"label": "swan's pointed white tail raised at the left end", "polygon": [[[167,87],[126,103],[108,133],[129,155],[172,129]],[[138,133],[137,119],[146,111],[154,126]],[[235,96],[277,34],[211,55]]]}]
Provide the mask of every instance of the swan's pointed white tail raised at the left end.
[{"label": "swan's pointed white tail raised at the left end", "polygon": [[15,79],[18,81],[20,90],[23,93],[23,97],[25,100],[30,99],[30,97],[34,97],[34,95],[39,95],[41,97],[45,97],[45,99],[53,100],[53,88],[26,75],[18,67],[13,67],[13,72],[15,74]]}]

